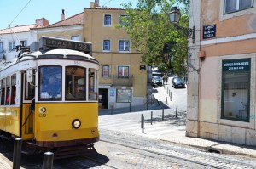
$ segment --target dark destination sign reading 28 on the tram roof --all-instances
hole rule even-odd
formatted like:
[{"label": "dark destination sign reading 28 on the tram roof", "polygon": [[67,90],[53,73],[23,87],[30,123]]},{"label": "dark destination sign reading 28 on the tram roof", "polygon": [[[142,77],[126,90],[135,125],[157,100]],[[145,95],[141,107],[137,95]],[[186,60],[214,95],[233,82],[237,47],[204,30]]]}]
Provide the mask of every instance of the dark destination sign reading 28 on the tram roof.
[{"label": "dark destination sign reading 28 on the tram roof", "polygon": [[40,48],[43,51],[48,51],[49,49],[53,48],[68,48],[91,55],[92,44],[90,42],[79,42],[54,37],[41,37],[39,43]]}]

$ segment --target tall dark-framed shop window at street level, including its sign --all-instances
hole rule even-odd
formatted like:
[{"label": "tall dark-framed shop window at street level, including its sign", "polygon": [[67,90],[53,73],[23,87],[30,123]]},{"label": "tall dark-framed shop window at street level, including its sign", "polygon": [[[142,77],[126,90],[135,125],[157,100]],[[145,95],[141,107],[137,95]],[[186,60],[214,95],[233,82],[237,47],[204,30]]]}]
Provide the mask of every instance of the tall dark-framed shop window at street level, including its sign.
[{"label": "tall dark-framed shop window at street level, including its sign", "polygon": [[249,121],[251,59],[223,61],[222,118]]}]

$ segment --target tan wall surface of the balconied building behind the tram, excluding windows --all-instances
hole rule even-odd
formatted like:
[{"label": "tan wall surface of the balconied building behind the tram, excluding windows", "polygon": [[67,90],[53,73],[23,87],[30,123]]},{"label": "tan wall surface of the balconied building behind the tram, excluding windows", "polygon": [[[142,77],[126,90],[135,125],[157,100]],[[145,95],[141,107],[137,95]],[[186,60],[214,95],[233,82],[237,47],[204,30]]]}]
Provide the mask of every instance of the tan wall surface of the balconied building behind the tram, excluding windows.
[{"label": "tan wall surface of the balconied building behind the tram, excluding windows", "polygon": [[[110,14],[112,16],[111,26],[103,25],[104,14]],[[130,40],[130,37],[125,32],[125,28],[116,28],[119,24],[120,14],[125,14],[125,10],[84,8],[84,39],[88,42],[92,42],[93,57],[100,62],[99,87],[113,91],[116,91],[118,88],[131,88],[131,105],[145,104],[147,96],[147,70],[140,70],[140,65],[144,65],[141,63],[142,54],[137,53],[134,48],[131,48],[130,52],[119,52],[119,40]],[[102,44],[104,39],[109,39],[111,42],[111,50],[109,52],[103,51]],[[102,65],[109,65],[109,77],[102,76]],[[130,66],[129,75],[133,76],[132,87],[113,85],[113,76],[118,75],[117,69],[119,65]],[[112,96],[108,93],[108,108],[111,106],[113,106],[113,108],[119,108],[129,106],[129,104],[117,103],[116,93]]]}]

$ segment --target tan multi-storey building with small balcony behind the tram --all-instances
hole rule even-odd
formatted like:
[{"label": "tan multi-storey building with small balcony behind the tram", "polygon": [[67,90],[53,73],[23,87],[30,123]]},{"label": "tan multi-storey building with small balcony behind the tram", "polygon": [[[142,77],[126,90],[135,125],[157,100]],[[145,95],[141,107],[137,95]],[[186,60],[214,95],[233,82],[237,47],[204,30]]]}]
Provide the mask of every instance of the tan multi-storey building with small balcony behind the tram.
[{"label": "tan multi-storey building with small balcony behind the tram", "polygon": [[92,42],[92,55],[100,62],[100,108],[111,109],[145,104],[147,65],[142,54],[131,48],[125,28],[117,29],[125,9],[100,7],[90,3],[84,8],[84,40]]}]

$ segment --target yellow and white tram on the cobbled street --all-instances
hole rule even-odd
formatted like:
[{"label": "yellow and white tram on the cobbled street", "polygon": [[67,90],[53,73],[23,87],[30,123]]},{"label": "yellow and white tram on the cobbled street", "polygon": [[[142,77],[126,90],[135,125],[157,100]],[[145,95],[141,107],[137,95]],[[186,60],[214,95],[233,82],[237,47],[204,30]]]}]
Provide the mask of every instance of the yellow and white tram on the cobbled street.
[{"label": "yellow and white tram on the cobbled street", "polygon": [[91,43],[41,37],[21,49],[0,70],[0,132],[22,138],[23,151],[52,151],[55,159],[93,150],[99,63]]}]

